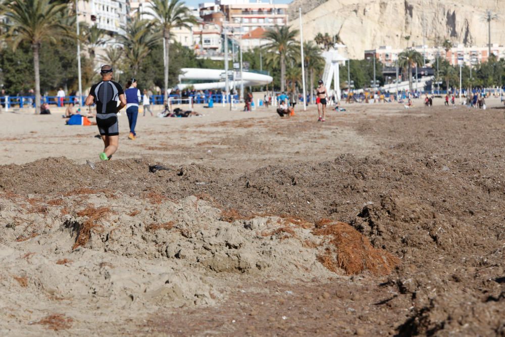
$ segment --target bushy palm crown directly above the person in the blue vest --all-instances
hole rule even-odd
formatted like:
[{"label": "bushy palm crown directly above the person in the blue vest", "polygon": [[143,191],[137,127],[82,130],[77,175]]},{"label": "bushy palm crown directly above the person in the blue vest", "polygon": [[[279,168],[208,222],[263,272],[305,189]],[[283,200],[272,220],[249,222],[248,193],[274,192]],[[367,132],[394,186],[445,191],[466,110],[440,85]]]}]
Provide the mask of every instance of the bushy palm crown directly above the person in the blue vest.
[{"label": "bushy palm crown directly above the person in the blue vest", "polygon": [[119,42],[124,46],[125,56],[134,76],[137,76],[143,59],[158,43],[159,34],[151,32],[151,28],[153,28],[153,22],[140,20],[137,15],[126,25],[124,35],[119,37]]}]

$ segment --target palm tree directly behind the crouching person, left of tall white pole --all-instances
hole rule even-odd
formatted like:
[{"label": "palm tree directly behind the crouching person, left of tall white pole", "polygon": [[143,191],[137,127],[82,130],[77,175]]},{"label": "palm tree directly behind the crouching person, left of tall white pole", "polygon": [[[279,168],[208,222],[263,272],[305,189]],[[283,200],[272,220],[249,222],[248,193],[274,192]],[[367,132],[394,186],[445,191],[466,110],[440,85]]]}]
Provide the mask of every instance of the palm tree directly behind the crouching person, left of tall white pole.
[{"label": "palm tree directly behind the crouching person, left of tall white pole", "polygon": [[281,67],[281,91],[284,91],[286,77],[286,59],[297,55],[297,43],[294,37],[298,34],[298,30],[289,26],[275,26],[268,29],[263,38],[270,42],[264,46],[264,50],[269,54],[267,59],[273,60],[278,56]]}]

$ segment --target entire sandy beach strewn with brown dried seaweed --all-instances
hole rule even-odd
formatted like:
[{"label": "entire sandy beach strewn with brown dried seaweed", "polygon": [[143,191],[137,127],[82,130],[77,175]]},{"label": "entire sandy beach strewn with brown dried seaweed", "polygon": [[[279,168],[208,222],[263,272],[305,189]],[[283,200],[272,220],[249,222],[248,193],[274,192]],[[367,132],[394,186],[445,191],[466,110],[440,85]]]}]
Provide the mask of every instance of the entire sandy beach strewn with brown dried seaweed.
[{"label": "entire sandy beach strewn with brown dried seaweed", "polygon": [[505,109],[414,103],[3,111],[0,334],[504,334]]}]

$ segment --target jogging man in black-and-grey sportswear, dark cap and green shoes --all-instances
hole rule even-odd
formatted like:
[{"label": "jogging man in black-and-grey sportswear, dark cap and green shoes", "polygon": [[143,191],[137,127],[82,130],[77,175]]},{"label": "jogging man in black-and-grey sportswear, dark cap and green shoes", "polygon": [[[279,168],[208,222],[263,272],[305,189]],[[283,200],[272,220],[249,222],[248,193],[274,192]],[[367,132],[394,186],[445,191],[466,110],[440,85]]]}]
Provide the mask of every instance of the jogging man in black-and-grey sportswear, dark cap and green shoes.
[{"label": "jogging man in black-and-grey sportswear, dark cap and green shoes", "polygon": [[[101,160],[110,160],[118,150],[119,127],[117,113],[126,106],[126,98],[121,84],[112,80],[112,67],[105,65],[100,70],[102,81],[93,84],[86,98],[86,105],[96,103],[96,125],[102,140],[104,152]],[[118,101],[120,102],[118,106]]]}]

